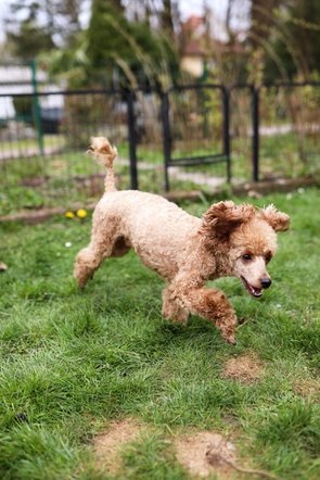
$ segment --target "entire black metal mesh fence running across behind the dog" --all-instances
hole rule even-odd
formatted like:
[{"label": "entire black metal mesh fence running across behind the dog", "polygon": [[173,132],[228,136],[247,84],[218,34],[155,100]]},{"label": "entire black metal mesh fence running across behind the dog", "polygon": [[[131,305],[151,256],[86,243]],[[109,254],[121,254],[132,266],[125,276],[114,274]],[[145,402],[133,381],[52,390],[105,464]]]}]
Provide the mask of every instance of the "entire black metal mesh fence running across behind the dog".
[{"label": "entire black metal mesh fence running across behind the dog", "polygon": [[319,111],[311,81],[1,93],[1,213],[97,198],[104,172],[84,154],[91,136],[117,144],[120,188],[312,174]]}]

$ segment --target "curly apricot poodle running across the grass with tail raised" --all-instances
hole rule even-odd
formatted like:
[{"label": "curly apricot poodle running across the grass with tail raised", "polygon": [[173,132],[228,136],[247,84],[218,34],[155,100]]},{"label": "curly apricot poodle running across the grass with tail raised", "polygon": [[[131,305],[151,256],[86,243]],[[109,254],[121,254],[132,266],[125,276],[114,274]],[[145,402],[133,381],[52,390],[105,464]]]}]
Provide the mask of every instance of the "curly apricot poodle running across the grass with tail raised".
[{"label": "curly apricot poodle running across the grass with tail raised", "polygon": [[236,277],[251,295],[260,296],[271,285],[266,264],[277,250],[276,232],[289,228],[290,217],[273,205],[257,210],[226,201],[196,218],[159,195],[116,191],[116,149],[98,137],[92,139],[90,151],[107,174],[105,193],[93,214],[91,241],[76,257],[79,286],[85,287],[104,258],[125,255],[132,248],[142,263],[166,281],[166,318],[185,324],[189,313],[200,315],[213,321],[228,342],[235,343],[234,311],[223,292],[205,288],[205,282]]}]

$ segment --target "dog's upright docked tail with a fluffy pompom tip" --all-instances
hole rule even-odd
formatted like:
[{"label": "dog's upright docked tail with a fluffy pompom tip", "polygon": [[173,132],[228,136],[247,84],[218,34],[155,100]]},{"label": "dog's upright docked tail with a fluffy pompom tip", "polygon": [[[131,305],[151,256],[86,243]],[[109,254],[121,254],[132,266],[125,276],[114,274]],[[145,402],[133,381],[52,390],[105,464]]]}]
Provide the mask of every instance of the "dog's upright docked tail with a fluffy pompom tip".
[{"label": "dog's upright docked tail with a fluffy pompom tip", "polygon": [[113,163],[118,154],[117,149],[104,137],[92,137],[91,146],[87,153],[93,155],[99,163],[102,163],[106,167],[104,180],[105,191],[116,191]]}]

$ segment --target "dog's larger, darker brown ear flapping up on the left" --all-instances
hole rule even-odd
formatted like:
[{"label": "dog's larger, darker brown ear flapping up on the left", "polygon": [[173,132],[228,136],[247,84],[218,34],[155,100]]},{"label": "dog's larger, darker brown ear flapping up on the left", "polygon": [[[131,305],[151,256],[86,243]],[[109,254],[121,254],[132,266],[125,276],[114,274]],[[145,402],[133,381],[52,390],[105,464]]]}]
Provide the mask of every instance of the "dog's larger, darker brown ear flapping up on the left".
[{"label": "dog's larger, darker brown ear flapping up on the left", "polygon": [[253,205],[235,205],[231,201],[215,203],[203,215],[201,232],[206,237],[228,240],[232,230],[248,222],[254,215]]}]

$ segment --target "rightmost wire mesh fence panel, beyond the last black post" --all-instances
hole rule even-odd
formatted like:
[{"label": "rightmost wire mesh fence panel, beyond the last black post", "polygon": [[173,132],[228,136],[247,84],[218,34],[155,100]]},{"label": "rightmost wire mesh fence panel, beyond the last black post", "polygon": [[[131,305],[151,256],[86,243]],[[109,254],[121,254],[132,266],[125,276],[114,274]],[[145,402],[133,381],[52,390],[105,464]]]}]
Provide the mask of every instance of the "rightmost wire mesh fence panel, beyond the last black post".
[{"label": "rightmost wire mesh fence panel, beyond the last black post", "polygon": [[320,166],[320,84],[259,89],[260,178],[315,174]]}]

